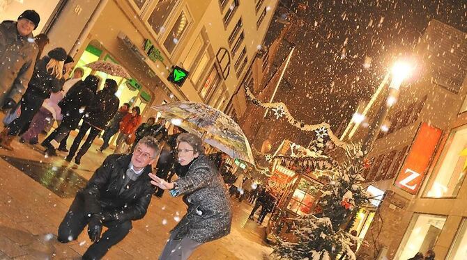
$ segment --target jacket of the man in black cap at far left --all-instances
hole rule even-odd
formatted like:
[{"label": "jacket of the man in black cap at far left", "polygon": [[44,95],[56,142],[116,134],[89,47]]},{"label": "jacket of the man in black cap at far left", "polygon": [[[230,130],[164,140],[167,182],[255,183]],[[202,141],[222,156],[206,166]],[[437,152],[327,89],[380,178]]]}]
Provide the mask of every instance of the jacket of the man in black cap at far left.
[{"label": "jacket of the man in black cap at far left", "polygon": [[0,24],[0,106],[6,98],[20,101],[33,74],[38,51],[32,33],[20,36],[13,21]]}]

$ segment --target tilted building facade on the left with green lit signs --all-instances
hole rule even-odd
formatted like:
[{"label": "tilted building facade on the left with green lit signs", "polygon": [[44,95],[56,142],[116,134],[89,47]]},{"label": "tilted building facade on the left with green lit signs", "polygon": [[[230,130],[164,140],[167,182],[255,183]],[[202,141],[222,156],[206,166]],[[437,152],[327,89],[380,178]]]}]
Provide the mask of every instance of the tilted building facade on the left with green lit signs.
[{"label": "tilted building facade on the left with green lit signs", "polygon": [[[29,3],[30,2],[30,3]],[[5,17],[45,8],[42,1],[3,8]],[[44,1],[45,2],[45,1]],[[276,0],[49,0],[41,32],[83,67],[115,79],[121,103],[146,108],[177,100],[223,110],[268,31]],[[42,8],[42,9],[41,9]],[[18,13],[18,14],[15,14]],[[15,19],[15,18],[14,18]],[[47,22],[46,22],[47,21]],[[39,33],[35,31],[34,33]],[[131,79],[91,71],[84,65],[107,60],[125,67]],[[183,84],[169,81],[175,68]]]}]

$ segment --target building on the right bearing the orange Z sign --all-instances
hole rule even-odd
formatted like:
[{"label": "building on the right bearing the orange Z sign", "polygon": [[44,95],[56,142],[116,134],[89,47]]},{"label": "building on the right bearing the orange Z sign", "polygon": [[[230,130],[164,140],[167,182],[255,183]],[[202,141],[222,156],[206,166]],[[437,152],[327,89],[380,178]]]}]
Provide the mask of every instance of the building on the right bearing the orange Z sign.
[{"label": "building on the right bearing the orange Z sign", "polygon": [[[436,252],[436,259],[467,255],[466,33],[432,20],[414,50],[413,81],[401,86],[365,170],[367,185],[385,193],[377,208],[358,222],[372,222],[362,238],[359,259],[408,259]],[[367,113],[385,106],[383,90]],[[371,127],[374,122],[368,120]],[[365,138],[360,126],[351,140]]]}]

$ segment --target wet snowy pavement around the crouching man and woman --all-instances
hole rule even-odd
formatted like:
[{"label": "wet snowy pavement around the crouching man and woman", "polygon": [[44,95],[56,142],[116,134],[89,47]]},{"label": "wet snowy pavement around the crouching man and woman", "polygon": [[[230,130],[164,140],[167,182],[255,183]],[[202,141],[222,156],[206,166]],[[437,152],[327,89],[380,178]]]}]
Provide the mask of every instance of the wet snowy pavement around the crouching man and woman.
[{"label": "wet snowy pavement around the crouching man and woman", "polygon": [[[62,244],[56,241],[56,229],[75,191],[111,151],[102,154],[93,145],[82,164],[75,165],[63,159],[64,153],[45,158],[39,145],[15,141],[13,147],[13,152],[0,149],[0,259],[80,259],[90,245],[86,231],[77,241]],[[263,242],[266,227],[247,218],[252,206],[237,200],[232,206],[231,234],[201,245],[190,259],[268,259],[272,249]],[[133,222],[130,234],[105,259],[157,259],[184,213],[180,198],[167,193],[153,197],[145,218]]]}]

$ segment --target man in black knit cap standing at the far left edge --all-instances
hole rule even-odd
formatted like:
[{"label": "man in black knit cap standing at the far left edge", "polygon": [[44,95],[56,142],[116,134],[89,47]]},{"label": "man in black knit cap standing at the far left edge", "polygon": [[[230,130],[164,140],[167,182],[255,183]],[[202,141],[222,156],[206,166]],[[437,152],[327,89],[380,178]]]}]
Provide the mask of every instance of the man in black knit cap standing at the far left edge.
[{"label": "man in black knit cap standing at the far left edge", "polygon": [[34,10],[25,10],[17,22],[0,24],[0,106],[15,108],[33,75],[38,46],[32,31],[40,22]]}]

